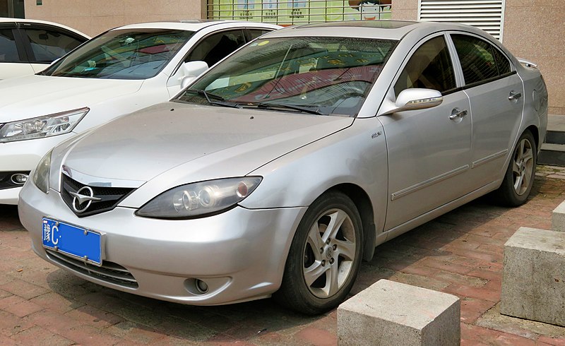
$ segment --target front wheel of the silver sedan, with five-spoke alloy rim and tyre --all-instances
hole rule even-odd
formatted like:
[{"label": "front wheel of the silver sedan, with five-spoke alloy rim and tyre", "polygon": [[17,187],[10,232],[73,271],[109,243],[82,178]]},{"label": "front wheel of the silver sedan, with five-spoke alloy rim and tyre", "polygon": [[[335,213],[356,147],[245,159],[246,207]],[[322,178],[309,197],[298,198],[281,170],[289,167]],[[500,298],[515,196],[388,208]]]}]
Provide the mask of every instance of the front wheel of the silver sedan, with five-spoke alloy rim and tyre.
[{"label": "front wheel of the silver sedan, with five-spoke alloy rim and tyre", "polygon": [[275,299],[303,314],[333,309],[357,278],[362,249],[362,222],[355,203],[343,193],[325,193],[299,223]]}]

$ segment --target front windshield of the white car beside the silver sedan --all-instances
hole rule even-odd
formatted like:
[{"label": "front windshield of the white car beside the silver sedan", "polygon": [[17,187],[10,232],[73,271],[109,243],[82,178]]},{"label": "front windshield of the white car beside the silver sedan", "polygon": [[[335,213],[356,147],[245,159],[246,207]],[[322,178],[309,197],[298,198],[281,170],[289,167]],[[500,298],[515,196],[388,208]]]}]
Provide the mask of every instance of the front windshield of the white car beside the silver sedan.
[{"label": "front windshield of the white car beside the silver sedan", "polygon": [[194,35],[170,29],[110,30],[64,56],[42,74],[60,77],[147,79],[157,75]]}]

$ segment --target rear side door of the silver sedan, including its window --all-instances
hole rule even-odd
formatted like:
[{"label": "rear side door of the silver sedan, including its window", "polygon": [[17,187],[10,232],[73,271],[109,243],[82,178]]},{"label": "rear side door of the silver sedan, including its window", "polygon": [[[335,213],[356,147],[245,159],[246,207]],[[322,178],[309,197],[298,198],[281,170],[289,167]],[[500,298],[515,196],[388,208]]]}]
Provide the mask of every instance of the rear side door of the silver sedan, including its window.
[{"label": "rear side door of the silver sedan, including its window", "polygon": [[480,37],[451,34],[472,115],[471,177],[477,189],[500,179],[523,112],[523,83],[509,59]]}]

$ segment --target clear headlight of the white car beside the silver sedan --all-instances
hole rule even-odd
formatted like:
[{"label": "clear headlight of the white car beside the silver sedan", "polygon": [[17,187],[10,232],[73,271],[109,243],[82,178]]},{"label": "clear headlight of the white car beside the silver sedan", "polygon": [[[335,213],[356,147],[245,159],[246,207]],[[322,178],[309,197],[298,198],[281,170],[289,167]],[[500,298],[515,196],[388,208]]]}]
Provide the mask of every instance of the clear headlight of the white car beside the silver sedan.
[{"label": "clear headlight of the white car beside the silver sedan", "polygon": [[25,141],[71,132],[90,109],[73,109],[68,112],[6,123],[0,127],[0,143]]}]

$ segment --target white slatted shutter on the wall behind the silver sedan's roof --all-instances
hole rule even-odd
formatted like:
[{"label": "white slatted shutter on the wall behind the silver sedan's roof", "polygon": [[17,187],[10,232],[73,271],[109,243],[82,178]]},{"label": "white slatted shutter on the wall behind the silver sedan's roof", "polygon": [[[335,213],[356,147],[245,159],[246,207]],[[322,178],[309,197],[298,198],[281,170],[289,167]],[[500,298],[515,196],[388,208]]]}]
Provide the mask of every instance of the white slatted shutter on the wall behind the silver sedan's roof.
[{"label": "white slatted shutter on the wall behind the silver sedan's roof", "polygon": [[506,0],[418,0],[418,20],[481,28],[502,41]]}]

